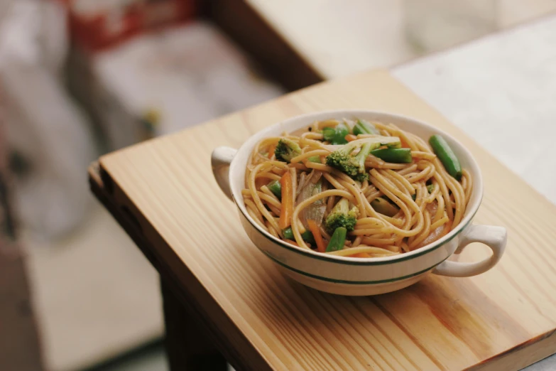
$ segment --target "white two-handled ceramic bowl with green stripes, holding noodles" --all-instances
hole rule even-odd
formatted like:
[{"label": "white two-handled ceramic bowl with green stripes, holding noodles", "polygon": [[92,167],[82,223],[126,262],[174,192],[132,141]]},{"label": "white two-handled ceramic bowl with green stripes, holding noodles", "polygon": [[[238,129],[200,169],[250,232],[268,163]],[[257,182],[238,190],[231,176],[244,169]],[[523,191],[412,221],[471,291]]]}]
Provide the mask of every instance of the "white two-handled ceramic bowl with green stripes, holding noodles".
[{"label": "white two-handled ceramic bowl with green stripes, holding noodles", "polygon": [[[247,213],[241,196],[241,190],[245,188],[246,163],[255,144],[267,136],[278,136],[283,131],[307,127],[315,121],[343,117],[393,123],[423,139],[442,134],[457,154],[462,167],[473,177],[473,192],[462,222],[440,240],[413,252],[364,259],[331,256],[294,247],[261,230]],[[409,117],[365,110],[317,112],[293,117],[259,131],[238,150],[228,147],[214,149],[212,171],[220,188],[235,201],[241,224],[256,247],[276,263],[284,274],[320,291],[342,295],[374,295],[403,289],[431,272],[454,277],[474,276],[494,267],[506,247],[506,228],[471,224],[483,196],[483,180],[473,156],[452,136]],[[486,244],[492,249],[491,256],[474,263],[447,260],[452,254],[459,254],[471,242]]]}]

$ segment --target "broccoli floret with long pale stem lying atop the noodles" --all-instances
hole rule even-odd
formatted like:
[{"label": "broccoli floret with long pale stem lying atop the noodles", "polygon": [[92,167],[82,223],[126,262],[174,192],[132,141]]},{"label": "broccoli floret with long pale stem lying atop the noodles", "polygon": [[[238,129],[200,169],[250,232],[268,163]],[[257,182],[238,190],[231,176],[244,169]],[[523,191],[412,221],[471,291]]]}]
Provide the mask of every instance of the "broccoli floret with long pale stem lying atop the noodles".
[{"label": "broccoli floret with long pale stem lying atop the noodles", "polygon": [[[326,163],[328,166],[347,173],[356,181],[366,181],[369,175],[365,171],[365,160],[372,150],[384,145],[389,148],[399,148],[401,143],[397,136],[375,136],[374,138],[357,139],[329,154]],[[356,149],[360,149],[359,153],[351,156],[351,152]]]}]

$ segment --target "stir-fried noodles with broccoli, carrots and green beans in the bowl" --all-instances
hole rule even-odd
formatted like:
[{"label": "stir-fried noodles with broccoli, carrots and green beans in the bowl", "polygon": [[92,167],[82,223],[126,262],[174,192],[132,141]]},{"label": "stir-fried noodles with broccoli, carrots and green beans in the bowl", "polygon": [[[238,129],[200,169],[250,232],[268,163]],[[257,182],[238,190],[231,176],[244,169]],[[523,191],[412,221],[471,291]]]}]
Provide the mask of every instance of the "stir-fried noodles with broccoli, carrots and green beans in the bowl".
[{"label": "stir-fried noodles with broccoli, carrots and green beans in the bowl", "polygon": [[369,258],[447,235],[462,222],[472,187],[441,135],[326,119],[258,141],[241,195],[252,219],[288,244]]}]

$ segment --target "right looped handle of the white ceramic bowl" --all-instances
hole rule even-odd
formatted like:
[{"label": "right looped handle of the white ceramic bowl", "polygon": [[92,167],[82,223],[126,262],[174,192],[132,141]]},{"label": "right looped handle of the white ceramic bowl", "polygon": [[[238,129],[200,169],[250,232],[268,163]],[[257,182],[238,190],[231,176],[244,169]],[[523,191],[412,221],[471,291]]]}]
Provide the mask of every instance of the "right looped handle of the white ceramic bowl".
[{"label": "right looped handle of the white ceramic bowl", "polygon": [[469,277],[488,271],[502,257],[508,240],[508,232],[504,227],[494,227],[493,225],[470,225],[469,230],[459,242],[459,246],[454,254],[459,254],[471,242],[481,242],[492,250],[492,255],[480,262],[463,263],[450,262],[445,260],[438,264],[432,273],[449,277]]}]

